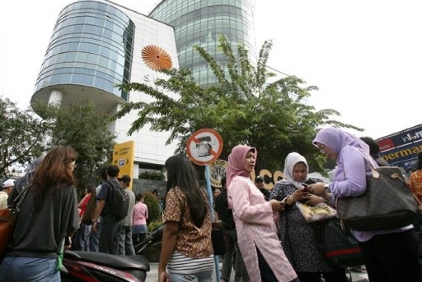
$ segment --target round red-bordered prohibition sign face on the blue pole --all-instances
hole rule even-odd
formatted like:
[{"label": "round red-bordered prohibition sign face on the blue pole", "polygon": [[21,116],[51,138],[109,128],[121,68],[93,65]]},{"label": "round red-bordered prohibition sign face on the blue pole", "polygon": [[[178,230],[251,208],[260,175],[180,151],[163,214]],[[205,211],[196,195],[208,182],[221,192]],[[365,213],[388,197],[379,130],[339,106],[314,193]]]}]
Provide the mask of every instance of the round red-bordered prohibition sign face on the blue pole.
[{"label": "round red-bordered prohibition sign face on the blue pole", "polygon": [[198,165],[207,165],[215,160],[223,150],[223,139],[217,131],[209,128],[195,131],[186,143],[189,159]]}]

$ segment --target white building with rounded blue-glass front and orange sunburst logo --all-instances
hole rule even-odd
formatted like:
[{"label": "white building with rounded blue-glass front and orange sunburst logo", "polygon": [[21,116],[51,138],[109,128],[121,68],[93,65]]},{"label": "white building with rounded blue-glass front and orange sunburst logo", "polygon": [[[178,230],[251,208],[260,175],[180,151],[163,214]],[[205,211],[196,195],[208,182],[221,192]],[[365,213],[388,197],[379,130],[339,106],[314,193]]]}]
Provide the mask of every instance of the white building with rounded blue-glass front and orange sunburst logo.
[{"label": "white building with rounded blue-glass front and orange sunburst logo", "polygon": [[[116,85],[138,82],[156,87],[156,79],[167,79],[158,69],[171,67],[178,68],[172,26],[105,0],[78,1],[58,15],[32,100],[68,107],[89,98],[97,110],[114,115],[126,102],[153,99]],[[161,167],[175,150],[175,144],[165,144],[169,132],[146,126],[128,136],[137,118],[137,111],[132,111],[109,123],[116,143],[135,142],[135,177],[140,168]]]}]

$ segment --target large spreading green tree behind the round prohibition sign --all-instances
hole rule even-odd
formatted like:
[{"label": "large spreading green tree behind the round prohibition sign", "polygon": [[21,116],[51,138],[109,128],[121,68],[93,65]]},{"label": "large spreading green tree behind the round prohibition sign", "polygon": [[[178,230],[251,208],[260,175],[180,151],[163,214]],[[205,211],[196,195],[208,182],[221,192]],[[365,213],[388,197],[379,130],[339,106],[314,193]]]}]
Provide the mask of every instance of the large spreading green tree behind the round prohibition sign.
[{"label": "large spreading green tree behind the round prohibition sign", "polygon": [[162,70],[169,78],[155,84],[175,95],[166,95],[145,84],[131,83],[120,86],[125,91],[140,91],[155,98],[153,102],[131,102],[124,105],[116,117],[132,110],[139,118],[132,124],[131,134],[146,124],[152,130],[170,131],[167,144],[178,141],[178,152],[184,152],[189,136],[201,128],[213,128],[223,138],[221,158],[226,159],[232,147],[245,144],[258,150],[258,167],[280,169],[290,152],[303,154],[314,169],[323,172],[325,158],[312,145],[316,132],[324,125],[353,128],[350,124],[331,119],[340,116],[333,109],[316,111],[304,101],[317,90],[305,86],[295,76],[268,83],[274,77],[266,63],[272,42],[266,41],[256,66],[242,44],[232,50],[226,38],[219,38],[219,48],[227,58],[223,66],[204,48],[194,47],[208,62],[217,77],[217,84],[203,89],[195,83],[189,70]]}]

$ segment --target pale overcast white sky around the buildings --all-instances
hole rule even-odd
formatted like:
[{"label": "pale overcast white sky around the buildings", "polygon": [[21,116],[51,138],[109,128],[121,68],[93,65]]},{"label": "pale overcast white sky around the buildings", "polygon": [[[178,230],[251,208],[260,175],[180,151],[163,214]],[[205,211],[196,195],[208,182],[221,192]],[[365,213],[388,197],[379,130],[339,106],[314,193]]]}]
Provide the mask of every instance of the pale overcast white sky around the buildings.
[{"label": "pale overcast white sky around the buildings", "polygon": [[[59,12],[72,0],[0,2],[0,95],[29,105]],[[147,15],[158,1],[114,0]],[[309,103],[379,138],[422,123],[422,2],[256,0],[257,50],[267,65],[318,86]],[[268,109],[270,111],[270,109]]]}]

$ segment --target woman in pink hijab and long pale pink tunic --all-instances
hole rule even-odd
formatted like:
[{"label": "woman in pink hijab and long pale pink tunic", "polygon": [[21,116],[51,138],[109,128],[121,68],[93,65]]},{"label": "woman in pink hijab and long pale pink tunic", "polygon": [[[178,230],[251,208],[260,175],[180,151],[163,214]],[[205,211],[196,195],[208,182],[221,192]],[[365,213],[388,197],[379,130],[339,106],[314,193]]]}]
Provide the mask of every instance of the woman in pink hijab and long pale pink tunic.
[{"label": "woman in pink hijab and long pale pink tunic", "polygon": [[250,179],[256,156],[255,148],[238,145],[228,158],[227,199],[233,210],[239,249],[251,281],[298,282],[274,223],[274,211],[282,210],[284,203],[265,201]]}]

